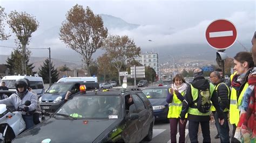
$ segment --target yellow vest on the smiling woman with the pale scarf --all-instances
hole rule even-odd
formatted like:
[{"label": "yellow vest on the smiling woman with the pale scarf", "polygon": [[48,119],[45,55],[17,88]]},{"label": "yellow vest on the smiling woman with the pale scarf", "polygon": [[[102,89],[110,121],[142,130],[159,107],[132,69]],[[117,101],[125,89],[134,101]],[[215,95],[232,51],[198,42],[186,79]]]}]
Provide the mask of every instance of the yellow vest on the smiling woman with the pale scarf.
[{"label": "yellow vest on the smiling woman with the pale scarf", "polygon": [[[181,92],[181,95],[184,96],[185,91]],[[182,109],[182,102],[178,99],[176,93],[173,92],[172,103],[169,104],[169,112],[168,112],[167,118],[179,118],[181,109]],[[187,118],[187,114],[185,118]]]}]

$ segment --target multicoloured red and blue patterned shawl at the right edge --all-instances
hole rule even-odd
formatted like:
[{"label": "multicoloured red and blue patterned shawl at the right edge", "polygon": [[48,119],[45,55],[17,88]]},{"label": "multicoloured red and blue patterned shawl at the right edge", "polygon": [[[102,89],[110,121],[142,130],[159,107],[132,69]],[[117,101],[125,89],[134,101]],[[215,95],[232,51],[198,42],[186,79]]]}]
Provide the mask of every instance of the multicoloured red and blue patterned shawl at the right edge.
[{"label": "multicoloured red and blue patterned shawl at the right edge", "polygon": [[248,76],[249,87],[245,91],[242,98],[242,104],[239,107],[241,110],[235,138],[241,142],[256,141],[256,67],[250,71]]}]

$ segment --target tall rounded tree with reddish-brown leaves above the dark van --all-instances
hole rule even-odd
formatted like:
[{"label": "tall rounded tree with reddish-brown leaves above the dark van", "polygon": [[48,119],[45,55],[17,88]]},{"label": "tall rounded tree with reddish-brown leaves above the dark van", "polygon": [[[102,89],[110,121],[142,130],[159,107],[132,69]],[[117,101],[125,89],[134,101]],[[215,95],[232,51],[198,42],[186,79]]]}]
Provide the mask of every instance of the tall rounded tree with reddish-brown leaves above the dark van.
[{"label": "tall rounded tree with reddish-brown leaves above the dark van", "polygon": [[89,67],[92,54],[103,46],[103,41],[107,37],[107,29],[104,28],[102,18],[94,15],[88,6],[84,10],[82,5],[76,4],[66,14],[59,36],[69,48],[82,55],[86,62],[87,74],[91,75]]}]

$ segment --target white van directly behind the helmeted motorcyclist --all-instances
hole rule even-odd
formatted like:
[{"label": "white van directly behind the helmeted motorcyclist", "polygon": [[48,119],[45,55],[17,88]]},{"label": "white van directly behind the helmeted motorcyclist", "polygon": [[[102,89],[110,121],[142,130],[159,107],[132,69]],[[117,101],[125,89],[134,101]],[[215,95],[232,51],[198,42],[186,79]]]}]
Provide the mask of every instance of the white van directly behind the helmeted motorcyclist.
[{"label": "white van directly behind the helmeted motorcyclist", "polygon": [[38,76],[23,76],[23,75],[10,75],[4,76],[1,81],[5,82],[5,86],[9,88],[9,90],[15,90],[15,81],[20,78],[27,78],[30,81],[30,87],[35,91],[39,96],[44,93],[44,82],[42,77]]}]

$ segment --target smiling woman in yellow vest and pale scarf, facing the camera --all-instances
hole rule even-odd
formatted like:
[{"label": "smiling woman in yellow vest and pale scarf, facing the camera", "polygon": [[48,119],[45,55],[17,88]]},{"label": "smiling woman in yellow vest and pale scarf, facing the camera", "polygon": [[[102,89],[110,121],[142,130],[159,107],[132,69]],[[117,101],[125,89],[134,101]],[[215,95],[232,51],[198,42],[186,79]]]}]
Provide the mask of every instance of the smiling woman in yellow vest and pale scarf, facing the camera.
[{"label": "smiling woman in yellow vest and pale scarf, facing the camera", "polygon": [[171,142],[177,142],[177,125],[179,124],[179,142],[185,142],[185,124],[180,123],[179,114],[182,108],[184,95],[186,94],[187,84],[184,77],[177,74],[173,77],[172,88],[169,89],[166,102],[169,103],[169,113],[167,118],[170,120]]}]

